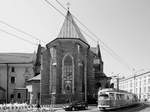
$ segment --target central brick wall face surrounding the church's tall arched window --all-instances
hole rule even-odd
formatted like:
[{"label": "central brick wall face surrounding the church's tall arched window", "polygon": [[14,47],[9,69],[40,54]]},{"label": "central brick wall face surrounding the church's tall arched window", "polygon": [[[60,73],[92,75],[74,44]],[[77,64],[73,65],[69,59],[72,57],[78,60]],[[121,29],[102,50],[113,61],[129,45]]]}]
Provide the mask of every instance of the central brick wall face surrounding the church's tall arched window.
[{"label": "central brick wall face surrounding the church's tall arched window", "polygon": [[[81,85],[81,82],[80,82],[80,75],[78,73],[78,67],[77,67],[77,48],[76,48],[76,44],[75,42],[72,42],[72,41],[66,41],[66,42],[60,42],[58,48],[57,48],[57,54],[58,55],[58,68],[57,68],[57,95],[64,99],[62,100],[65,100],[66,101],[66,98],[67,97],[72,97],[71,99],[69,100],[76,100],[75,98],[78,98],[79,97],[79,94],[78,94],[78,97],[77,97],[77,93],[79,93],[79,91],[81,90],[80,86]],[[70,95],[68,96],[67,94],[62,94],[62,60],[63,60],[63,57],[66,55],[66,54],[70,54],[71,56],[73,56],[73,63],[74,63],[74,95]],[[58,82],[59,81],[59,82]],[[60,99],[60,97],[58,97],[58,99]],[[57,100],[58,102],[58,100]],[[63,101],[64,102],[64,101]],[[60,102],[59,102],[60,103]]]}]

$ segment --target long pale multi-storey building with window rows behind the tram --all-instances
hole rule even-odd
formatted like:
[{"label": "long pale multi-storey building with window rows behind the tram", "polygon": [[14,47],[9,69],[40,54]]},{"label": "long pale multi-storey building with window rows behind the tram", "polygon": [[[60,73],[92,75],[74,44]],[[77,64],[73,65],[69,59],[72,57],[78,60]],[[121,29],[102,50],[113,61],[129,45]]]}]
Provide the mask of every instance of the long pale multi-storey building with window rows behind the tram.
[{"label": "long pale multi-storey building with window rows behind the tram", "polygon": [[[117,85],[116,81],[113,82]],[[119,89],[137,94],[140,100],[150,100],[150,71],[119,79]]]}]

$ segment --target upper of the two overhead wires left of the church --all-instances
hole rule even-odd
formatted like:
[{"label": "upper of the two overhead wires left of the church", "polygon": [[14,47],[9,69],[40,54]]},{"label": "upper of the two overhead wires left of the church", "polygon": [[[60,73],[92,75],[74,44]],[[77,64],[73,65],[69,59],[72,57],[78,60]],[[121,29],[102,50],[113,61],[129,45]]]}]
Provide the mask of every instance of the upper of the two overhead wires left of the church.
[{"label": "upper of the two overhead wires left of the church", "polygon": [[27,33],[27,32],[25,32],[25,31],[23,31],[23,30],[21,30],[21,29],[19,29],[19,28],[16,28],[16,27],[14,27],[14,26],[12,26],[12,25],[10,25],[10,24],[8,24],[8,23],[2,21],[2,20],[0,20],[0,23],[2,23],[2,24],[4,24],[4,25],[7,25],[8,27],[10,27],[10,28],[12,28],[12,29],[14,29],[14,30],[16,30],[16,31],[18,31],[18,32],[21,32],[21,33],[23,33],[23,34],[25,34],[25,35],[27,35],[27,36],[30,36],[31,38],[34,38],[34,39],[36,39],[36,40],[42,41],[43,43],[46,43],[45,41],[43,41],[43,40],[37,38],[36,36],[33,36],[32,34]]}]

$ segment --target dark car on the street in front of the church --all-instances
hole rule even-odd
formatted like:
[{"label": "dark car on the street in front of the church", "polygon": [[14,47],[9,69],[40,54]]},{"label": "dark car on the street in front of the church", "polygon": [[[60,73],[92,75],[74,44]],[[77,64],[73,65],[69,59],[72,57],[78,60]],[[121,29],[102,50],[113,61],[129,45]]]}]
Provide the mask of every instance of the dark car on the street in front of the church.
[{"label": "dark car on the street in front of the church", "polygon": [[74,110],[86,110],[88,108],[88,104],[86,102],[75,102],[70,103],[69,105],[65,106],[63,109],[65,111],[74,111]]}]

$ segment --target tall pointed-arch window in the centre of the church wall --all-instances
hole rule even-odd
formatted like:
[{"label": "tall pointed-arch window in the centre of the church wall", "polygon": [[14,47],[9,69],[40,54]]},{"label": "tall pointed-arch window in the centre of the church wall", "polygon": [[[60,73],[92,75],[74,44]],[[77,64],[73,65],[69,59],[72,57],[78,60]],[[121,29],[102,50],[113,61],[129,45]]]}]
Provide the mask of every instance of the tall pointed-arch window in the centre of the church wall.
[{"label": "tall pointed-arch window in the centre of the church wall", "polygon": [[74,63],[69,54],[64,56],[62,66],[62,92],[70,94],[74,92]]}]

